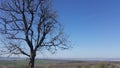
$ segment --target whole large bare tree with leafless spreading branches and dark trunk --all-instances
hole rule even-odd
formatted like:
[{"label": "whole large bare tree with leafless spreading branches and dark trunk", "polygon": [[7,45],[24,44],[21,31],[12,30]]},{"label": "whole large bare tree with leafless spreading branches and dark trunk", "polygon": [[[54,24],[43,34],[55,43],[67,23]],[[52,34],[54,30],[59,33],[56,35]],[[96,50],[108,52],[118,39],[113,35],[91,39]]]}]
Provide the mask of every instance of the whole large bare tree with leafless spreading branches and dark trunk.
[{"label": "whole large bare tree with leafless spreading branches and dark trunk", "polygon": [[51,0],[0,0],[0,33],[6,37],[3,54],[23,54],[34,68],[36,53],[67,49]]}]

